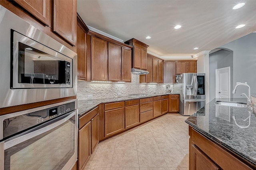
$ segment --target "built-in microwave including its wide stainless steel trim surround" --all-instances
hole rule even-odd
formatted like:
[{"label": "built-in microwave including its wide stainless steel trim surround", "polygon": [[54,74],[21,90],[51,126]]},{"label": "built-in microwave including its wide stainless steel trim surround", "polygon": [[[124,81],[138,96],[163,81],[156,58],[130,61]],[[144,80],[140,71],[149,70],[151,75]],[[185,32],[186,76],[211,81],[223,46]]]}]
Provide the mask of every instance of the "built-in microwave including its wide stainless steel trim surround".
[{"label": "built-in microwave including its wide stainless steel trim surround", "polygon": [[0,108],[76,96],[77,54],[0,6]]}]

